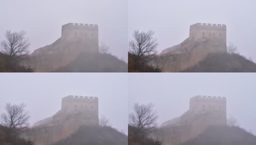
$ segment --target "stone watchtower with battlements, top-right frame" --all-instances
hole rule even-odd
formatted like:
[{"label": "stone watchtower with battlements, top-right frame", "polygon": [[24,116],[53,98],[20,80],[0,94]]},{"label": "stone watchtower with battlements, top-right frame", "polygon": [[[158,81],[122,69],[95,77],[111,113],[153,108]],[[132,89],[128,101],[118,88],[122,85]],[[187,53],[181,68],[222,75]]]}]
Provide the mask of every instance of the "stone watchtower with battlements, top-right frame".
[{"label": "stone watchtower with battlements, top-right frame", "polygon": [[226,52],[226,25],[196,23],[190,26],[190,40],[209,40],[219,51]]}]

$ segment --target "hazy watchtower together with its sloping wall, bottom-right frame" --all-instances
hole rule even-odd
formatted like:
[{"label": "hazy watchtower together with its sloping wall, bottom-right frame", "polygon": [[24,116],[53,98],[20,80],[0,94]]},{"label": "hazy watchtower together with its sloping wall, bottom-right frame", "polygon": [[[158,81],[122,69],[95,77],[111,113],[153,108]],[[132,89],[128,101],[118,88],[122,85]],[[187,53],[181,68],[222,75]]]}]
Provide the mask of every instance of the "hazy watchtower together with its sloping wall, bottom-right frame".
[{"label": "hazy watchtower together with its sloping wall, bottom-right frame", "polygon": [[[189,110],[183,115],[161,124],[160,128],[164,129],[164,132],[157,134],[156,138],[162,138],[163,145],[177,145],[195,138],[210,126],[225,125],[226,98],[198,95],[190,98]],[[179,140],[174,144],[173,140],[176,138]]]}]

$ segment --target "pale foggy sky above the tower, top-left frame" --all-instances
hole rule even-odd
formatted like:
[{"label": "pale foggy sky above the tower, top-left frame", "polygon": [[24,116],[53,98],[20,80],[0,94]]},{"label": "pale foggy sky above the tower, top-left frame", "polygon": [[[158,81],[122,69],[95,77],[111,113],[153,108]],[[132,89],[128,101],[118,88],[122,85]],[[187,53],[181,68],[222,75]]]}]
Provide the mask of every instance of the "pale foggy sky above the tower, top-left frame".
[{"label": "pale foggy sky above the tower, top-left frame", "polygon": [[99,43],[127,61],[127,0],[1,0],[0,40],[7,29],[26,30],[31,52],[55,42],[66,23],[98,24]]}]

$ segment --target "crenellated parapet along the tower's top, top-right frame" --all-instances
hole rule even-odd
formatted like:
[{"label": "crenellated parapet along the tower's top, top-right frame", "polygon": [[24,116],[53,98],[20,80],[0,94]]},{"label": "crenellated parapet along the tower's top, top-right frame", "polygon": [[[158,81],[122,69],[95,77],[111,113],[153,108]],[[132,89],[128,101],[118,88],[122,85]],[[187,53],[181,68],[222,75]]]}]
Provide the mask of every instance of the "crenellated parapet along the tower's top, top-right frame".
[{"label": "crenellated parapet along the tower's top, top-right frame", "polygon": [[224,24],[210,24],[210,23],[195,23],[190,26],[190,29],[216,29],[216,30],[226,30],[226,25]]}]

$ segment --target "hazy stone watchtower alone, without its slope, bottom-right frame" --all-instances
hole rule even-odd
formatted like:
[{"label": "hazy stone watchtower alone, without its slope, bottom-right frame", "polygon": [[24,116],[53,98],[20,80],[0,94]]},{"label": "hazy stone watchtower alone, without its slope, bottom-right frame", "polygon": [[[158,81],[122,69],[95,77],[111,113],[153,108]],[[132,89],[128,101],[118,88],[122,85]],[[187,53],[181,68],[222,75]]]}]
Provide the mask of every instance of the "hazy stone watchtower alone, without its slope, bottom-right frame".
[{"label": "hazy stone watchtower alone, without its slope, bottom-right frame", "polygon": [[194,96],[190,99],[190,112],[194,114],[211,114],[213,124],[226,124],[226,98],[211,96]]}]

